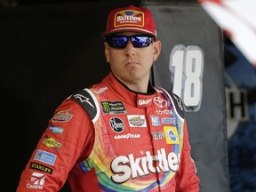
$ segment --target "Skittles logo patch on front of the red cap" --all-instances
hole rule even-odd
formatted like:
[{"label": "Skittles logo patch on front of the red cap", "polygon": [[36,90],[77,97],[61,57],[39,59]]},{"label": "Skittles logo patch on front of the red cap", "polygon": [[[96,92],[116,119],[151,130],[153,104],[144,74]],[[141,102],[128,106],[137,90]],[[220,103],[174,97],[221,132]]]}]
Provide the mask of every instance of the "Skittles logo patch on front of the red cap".
[{"label": "Skittles logo patch on front of the red cap", "polygon": [[116,12],[114,19],[115,28],[124,27],[126,25],[142,28],[144,26],[144,13],[133,10]]}]

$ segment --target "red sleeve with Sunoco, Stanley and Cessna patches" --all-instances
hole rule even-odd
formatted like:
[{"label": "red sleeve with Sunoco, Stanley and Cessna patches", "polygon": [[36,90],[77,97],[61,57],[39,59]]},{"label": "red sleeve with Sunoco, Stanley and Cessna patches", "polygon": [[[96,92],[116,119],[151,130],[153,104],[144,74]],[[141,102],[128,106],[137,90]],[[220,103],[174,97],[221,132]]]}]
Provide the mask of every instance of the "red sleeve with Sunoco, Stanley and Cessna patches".
[{"label": "red sleeve with Sunoco, Stanley and Cessna patches", "polygon": [[16,192],[59,191],[80,156],[90,154],[93,140],[90,116],[75,101],[64,101],[38,140]]}]

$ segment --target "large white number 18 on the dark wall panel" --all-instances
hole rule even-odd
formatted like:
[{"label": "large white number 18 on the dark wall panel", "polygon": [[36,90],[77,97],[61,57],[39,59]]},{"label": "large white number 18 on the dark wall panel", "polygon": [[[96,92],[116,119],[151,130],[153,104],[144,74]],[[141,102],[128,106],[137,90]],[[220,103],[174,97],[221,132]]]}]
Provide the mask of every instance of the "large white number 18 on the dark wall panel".
[{"label": "large white number 18 on the dark wall panel", "polygon": [[175,45],[170,54],[172,92],[183,100],[186,111],[197,111],[202,101],[204,55],[200,47]]}]

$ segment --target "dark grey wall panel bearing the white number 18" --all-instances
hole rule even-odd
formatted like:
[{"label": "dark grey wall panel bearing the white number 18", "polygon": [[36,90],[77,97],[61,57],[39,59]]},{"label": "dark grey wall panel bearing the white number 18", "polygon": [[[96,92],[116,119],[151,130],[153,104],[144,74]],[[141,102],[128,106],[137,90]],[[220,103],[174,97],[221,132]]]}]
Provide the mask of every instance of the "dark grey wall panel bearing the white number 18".
[{"label": "dark grey wall panel bearing the white number 18", "polygon": [[200,4],[145,1],[162,41],[156,86],[183,100],[200,192],[227,192],[228,149],[220,28]]}]

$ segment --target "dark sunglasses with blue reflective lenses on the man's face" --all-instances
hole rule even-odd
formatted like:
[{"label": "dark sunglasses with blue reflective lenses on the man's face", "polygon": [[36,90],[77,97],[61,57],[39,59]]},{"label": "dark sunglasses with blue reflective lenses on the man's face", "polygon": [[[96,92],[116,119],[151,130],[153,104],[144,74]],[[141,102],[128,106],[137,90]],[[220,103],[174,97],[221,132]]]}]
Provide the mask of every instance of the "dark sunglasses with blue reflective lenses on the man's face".
[{"label": "dark sunglasses with blue reflective lenses on the man's face", "polygon": [[152,36],[108,36],[105,41],[110,47],[124,49],[129,39],[136,48],[148,47],[155,40]]}]

